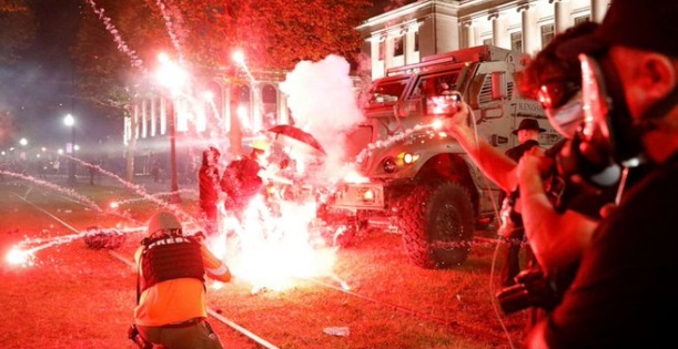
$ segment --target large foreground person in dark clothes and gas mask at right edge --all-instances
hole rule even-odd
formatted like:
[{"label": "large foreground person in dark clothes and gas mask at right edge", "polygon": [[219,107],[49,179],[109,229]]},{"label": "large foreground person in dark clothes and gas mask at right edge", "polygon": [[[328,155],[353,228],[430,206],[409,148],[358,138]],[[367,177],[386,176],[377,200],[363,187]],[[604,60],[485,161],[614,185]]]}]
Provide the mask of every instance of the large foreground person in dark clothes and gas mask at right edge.
[{"label": "large foreground person in dark clothes and gas mask at right edge", "polygon": [[[563,301],[528,348],[661,348],[678,309],[678,2],[615,0],[594,33],[558,52],[581,61],[585,121],[577,171],[623,168],[617,207],[603,217]],[[522,162],[528,158],[523,157]],[[627,168],[648,171],[625,189]],[[523,164],[519,165],[520,167]]]}]

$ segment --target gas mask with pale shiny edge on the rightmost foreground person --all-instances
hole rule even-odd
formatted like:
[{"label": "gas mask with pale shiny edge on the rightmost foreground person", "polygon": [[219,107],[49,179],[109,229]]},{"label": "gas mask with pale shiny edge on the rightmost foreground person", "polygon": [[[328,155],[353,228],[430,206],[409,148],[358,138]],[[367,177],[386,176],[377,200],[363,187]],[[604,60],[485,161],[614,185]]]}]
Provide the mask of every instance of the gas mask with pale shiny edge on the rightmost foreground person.
[{"label": "gas mask with pale shiny edge on the rightmost foreground person", "polygon": [[610,186],[619,182],[623,168],[647,162],[642,134],[659,127],[659,121],[676,105],[678,86],[636,121],[611,60],[580,54],[579,61],[584,121],[561,152],[559,170],[597,186]]}]

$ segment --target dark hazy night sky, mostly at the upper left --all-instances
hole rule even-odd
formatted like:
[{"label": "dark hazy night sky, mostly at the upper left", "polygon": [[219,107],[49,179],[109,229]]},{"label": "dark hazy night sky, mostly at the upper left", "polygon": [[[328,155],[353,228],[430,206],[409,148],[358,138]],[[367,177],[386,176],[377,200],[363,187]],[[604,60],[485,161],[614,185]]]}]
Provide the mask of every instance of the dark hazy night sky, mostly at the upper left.
[{"label": "dark hazy night sky, mostly at the upper left", "polygon": [[[62,147],[70,142],[63,117],[77,119],[77,143],[98,144],[120,138],[122,124],[92,115],[84,101],[73,97],[73,66],[69,48],[74,42],[78,17],[90,8],[84,0],[29,0],[39,23],[36,43],[12,66],[0,66],[0,103],[13,111],[13,132],[0,147],[16,146],[21,137],[32,146]],[[376,0],[371,16],[406,0]]]}]

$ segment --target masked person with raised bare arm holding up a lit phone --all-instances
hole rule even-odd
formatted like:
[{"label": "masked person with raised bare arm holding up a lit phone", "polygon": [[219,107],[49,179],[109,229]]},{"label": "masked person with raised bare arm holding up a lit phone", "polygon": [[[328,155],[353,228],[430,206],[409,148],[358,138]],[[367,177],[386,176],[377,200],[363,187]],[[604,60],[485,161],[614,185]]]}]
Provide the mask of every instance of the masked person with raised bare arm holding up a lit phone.
[{"label": "masked person with raised bare arm holding up a lit phone", "polygon": [[[519,79],[518,86],[520,92],[530,97],[537,99],[544,107],[549,123],[560,135],[563,141],[558,142],[551,148],[544,152],[530,153],[537,156],[538,172],[532,178],[539,186],[532,185],[534,194],[544,194],[546,189],[542,184],[542,176],[545,173],[555,171],[555,157],[564,144],[570,140],[578,124],[583,120],[581,105],[579,100],[580,86],[580,69],[577,59],[563,60],[556,57],[556,49],[571,40],[587,33],[590,33],[597,28],[596,23],[583,23],[570,28],[567,31],[557,34],[554,40],[544,48],[533,61],[529,62],[526,70]],[[468,106],[462,103],[461,111],[444,121],[444,127],[453,136],[456,137],[459,145],[464,147],[470,158],[478,165],[483,173],[496,183],[503,191],[515,193],[518,186],[517,162],[512,160],[499,150],[492,146],[484,140],[476,138],[473,129],[467,122],[469,116]],[[543,151],[539,148],[539,151]],[[537,154],[539,153],[539,154]],[[560,193],[557,194],[561,197]],[[577,196],[568,194],[566,196]],[[590,198],[580,199],[584,203],[591,203]],[[530,207],[526,208],[527,206]],[[528,237],[528,243],[532,247],[530,235],[544,236],[545,239],[555,240],[557,244],[540,246],[537,252],[540,256],[537,257],[540,266],[546,270],[559,270],[569,268],[573,263],[579,260],[581,252],[588,245],[590,234],[596,226],[597,208],[587,207],[586,209],[568,209],[568,206],[563,204],[554,205],[550,202],[533,203],[532,201],[518,201],[516,206],[523,208],[512,208],[510,214],[526,215],[532,212],[539,212],[537,219],[525,222],[525,230]],[[517,211],[513,213],[513,211]],[[504,213],[503,213],[504,214]],[[528,225],[529,223],[529,225]]]}]

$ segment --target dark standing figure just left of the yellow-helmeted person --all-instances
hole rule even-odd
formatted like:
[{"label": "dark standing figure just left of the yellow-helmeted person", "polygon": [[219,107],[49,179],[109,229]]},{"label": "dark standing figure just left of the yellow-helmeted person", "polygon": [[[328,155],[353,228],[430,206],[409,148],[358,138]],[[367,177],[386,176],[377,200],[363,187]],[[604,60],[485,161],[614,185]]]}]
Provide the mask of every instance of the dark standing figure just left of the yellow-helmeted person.
[{"label": "dark standing figure just left of the yellow-helmeted person", "polygon": [[213,146],[202,152],[202,164],[198,171],[200,209],[205,225],[205,233],[212,236],[219,230],[217,203],[220,194],[219,158],[221,153]]}]

